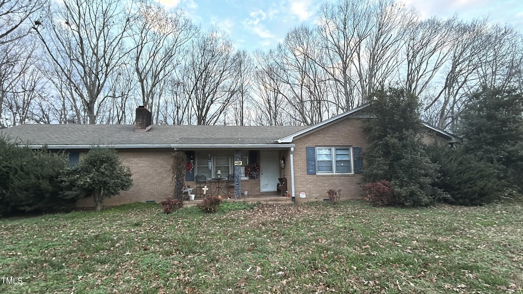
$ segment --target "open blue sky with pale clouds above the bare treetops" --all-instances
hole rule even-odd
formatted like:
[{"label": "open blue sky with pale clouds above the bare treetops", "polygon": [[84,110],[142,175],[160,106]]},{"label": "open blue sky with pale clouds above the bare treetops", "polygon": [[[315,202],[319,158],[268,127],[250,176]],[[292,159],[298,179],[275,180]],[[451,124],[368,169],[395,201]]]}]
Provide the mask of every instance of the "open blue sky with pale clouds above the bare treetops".
[{"label": "open blue sky with pale clouds above the bare treetops", "polygon": [[[314,20],[317,8],[334,0],[157,0],[167,7],[180,7],[204,29],[211,24],[229,33],[236,47],[274,48],[289,29]],[[523,28],[523,0],[404,0],[424,17],[462,19],[489,16],[494,22]]]}]

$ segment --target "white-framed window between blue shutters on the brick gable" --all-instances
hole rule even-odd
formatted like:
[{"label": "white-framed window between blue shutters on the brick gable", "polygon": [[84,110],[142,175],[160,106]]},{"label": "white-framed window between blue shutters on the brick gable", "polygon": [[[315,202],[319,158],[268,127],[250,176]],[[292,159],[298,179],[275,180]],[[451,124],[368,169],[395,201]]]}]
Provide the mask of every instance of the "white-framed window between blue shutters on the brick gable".
[{"label": "white-framed window between blue shutters on the brick gable", "polygon": [[353,172],[350,147],[316,147],[316,172],[318,174],[350,174]]}]

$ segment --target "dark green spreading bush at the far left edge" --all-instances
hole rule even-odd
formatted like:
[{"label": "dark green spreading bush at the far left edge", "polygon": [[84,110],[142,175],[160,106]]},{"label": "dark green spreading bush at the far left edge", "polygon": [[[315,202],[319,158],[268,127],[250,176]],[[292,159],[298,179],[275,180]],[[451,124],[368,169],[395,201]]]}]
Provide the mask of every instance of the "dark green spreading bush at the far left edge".
[{"label": "dark green spreading bush at the far left edge", "polygon": [[73,208],[60,196],[63,153],[20,147],[0,137],[0,215],[50,213]]}]

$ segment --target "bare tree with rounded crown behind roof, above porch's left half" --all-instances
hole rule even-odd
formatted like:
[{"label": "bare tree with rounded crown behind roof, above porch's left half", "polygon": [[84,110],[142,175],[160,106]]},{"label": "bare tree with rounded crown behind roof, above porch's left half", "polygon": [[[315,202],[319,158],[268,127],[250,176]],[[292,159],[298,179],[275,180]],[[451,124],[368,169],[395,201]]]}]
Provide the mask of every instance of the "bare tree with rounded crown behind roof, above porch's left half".
[{"label": "bare tree with rounded crown behind roof, above porch's left half", "polygon": [[223,119],[238,91],[235,56],[232,42],[217,28],[189,42],[178,81],[191,105],[190,124],[215,125]]}]

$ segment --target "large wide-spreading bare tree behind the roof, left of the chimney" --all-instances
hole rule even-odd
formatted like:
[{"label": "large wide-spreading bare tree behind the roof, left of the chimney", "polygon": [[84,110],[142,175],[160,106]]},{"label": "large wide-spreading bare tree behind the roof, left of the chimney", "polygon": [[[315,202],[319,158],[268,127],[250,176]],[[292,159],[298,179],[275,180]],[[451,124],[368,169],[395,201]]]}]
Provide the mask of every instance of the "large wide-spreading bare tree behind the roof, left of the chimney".
[{"label": "large wide-spreading bare tree behind the roof, left of the chimney", "polygon": [[129,52],[124,40],[133,21],[132,9],[117,0],[65,0],[53,5],[48,17],[33,28],[61,78],[81,101],[87,121],[96,123],[99,106],[107,98],[106,83]]}]

